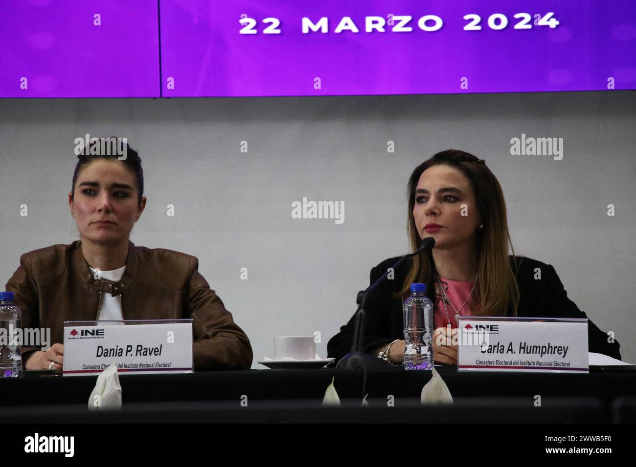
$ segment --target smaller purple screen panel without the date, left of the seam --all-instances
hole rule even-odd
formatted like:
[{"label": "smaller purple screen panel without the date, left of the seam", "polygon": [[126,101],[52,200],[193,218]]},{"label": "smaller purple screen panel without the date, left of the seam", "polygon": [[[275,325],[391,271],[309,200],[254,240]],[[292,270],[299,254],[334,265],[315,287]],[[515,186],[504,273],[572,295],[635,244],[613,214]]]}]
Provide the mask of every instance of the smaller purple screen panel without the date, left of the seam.
[{"label": "smaller purple screen panel without the date, left of the seam", "polygon": [[158,37],[156,1],[2,0],[0,97],[156,97]]}]

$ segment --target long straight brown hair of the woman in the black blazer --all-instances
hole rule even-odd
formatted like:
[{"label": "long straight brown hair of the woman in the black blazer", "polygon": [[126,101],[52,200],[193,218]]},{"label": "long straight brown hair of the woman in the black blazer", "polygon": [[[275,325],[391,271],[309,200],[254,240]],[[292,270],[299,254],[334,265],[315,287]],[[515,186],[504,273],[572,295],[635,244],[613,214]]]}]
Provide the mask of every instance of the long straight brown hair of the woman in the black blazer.
[{"label": "long straight brown hair of the woman in the black blazer", "polygon": [[[475,307],[471,313],[476,316],[507,316],[508,309],[512,309],[512,315],[516,316],[519,306],[519,287],[516,281],[518,271],[516,262],[513,271],[508,259],[508,245],[513,255],[515,250],[508,232],[506,201],[499,180],[490,172],[483,159],[468,152],[449,149],[438,152],[413,170],[408,182],[408,236],[411,251],[417,250],[422,243],[413,218],[415,189],[422,172],[439,164],[457,168],[466,176],[473,188],[477,209],[484,224],[483,229],[477,231],[479,278],[472,299]],[[427,295],[434,302],[434,283],[438,279],[438,273],[431,250],[425,250],[413,257],[411,264],[399,297],[406,299],[410,295],[411,283],[421,282],[426,284]]]}]

